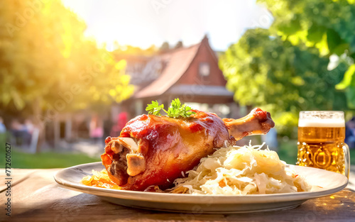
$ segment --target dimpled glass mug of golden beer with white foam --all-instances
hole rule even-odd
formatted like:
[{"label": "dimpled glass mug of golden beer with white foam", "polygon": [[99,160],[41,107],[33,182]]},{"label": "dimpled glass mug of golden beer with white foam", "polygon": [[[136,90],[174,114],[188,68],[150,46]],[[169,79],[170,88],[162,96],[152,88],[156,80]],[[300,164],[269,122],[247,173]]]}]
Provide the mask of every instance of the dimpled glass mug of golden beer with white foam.
[{"label": "dimpled glass mug of golden beer with white foam", "polygon": [[343,111],[301,111],[297,165],[344,174],[349,178],[349,147],[344,143]]}]

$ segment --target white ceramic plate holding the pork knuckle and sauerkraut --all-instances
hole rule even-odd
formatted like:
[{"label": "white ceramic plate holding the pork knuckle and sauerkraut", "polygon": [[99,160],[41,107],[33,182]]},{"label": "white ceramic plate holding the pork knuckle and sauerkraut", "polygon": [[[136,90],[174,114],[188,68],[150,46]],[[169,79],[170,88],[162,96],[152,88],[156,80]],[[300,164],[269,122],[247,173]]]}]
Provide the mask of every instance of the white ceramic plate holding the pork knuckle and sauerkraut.
[{"label": "white ceramic plate holding the pork knuckle and sauerkraut", "polygon": [[55,174],[58,184],[67,189],[94,194],[114,204],[141,209],[195,213],[245,213],[292,209],[308,199],[334,194],[346,187],[348,179],[335,172],[311,167],[295,166],[297,174],[304,176],[310,184],[322,188],[312,192],[289,194],[253,194],[247,196],[202,196],[190,194],[162,194],[133,192],[116,189],[89,187],[80,184],[82,177],[91,175],[92,170],[101,171],[101,162],[65,168]]}]

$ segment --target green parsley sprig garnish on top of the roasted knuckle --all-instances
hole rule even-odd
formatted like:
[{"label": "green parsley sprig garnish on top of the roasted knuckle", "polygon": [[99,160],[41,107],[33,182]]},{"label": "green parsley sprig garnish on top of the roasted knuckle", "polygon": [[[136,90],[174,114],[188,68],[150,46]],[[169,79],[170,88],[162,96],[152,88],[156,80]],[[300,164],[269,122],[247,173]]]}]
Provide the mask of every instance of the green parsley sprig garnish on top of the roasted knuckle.
[{"label": "green parsley sprig garnish on top of the roasted knuckle", "polygon": [[152,101],[151,104],[148,104],[146,111],[148,111],[149,114],[161,116],[160,111],[162,109],[167,113],[166,116],[170,118],[178,118],[180,116],[190,117],[192,114],[195,114],[194,111],[191,111],[190,106],[186,106],[186,104],[182,105],[180,99],[174,99],[171,101],[168,111],[164,109],[164,104],[159,105],[158,101]]}]

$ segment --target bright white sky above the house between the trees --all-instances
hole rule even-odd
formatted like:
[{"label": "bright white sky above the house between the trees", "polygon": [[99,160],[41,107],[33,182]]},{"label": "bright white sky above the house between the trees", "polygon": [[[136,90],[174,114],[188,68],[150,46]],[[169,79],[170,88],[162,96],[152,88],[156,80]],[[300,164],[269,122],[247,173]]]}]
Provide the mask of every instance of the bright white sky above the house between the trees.
[{"label": "bright white sky above the house between the trees", "polygon": [[87,23],[85,35],[97,43],[160,47],[167,41],[199,43],[205,34],[224,51],[247,28],[268,28],[273,18],[256,0],[62,0]]}]

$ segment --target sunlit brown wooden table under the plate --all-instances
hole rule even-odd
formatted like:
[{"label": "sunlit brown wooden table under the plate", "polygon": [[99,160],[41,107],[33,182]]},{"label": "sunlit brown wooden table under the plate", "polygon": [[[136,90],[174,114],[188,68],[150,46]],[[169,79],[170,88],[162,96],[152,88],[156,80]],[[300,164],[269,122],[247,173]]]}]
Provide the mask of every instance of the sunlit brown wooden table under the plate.
[{"label": "sunlit brown wooden table under the plate", "polygon": [[[0,169],[5,172],[4,169]],[[296,209],[266,213],[194,214],[132,209],[98,196],[60,187],[58,169],[13,169],[11,217],[6,216],[6,177],[1,173],[0,221],[355,221],[355,192],[349,188],[332,196],[306,201]]]}]

